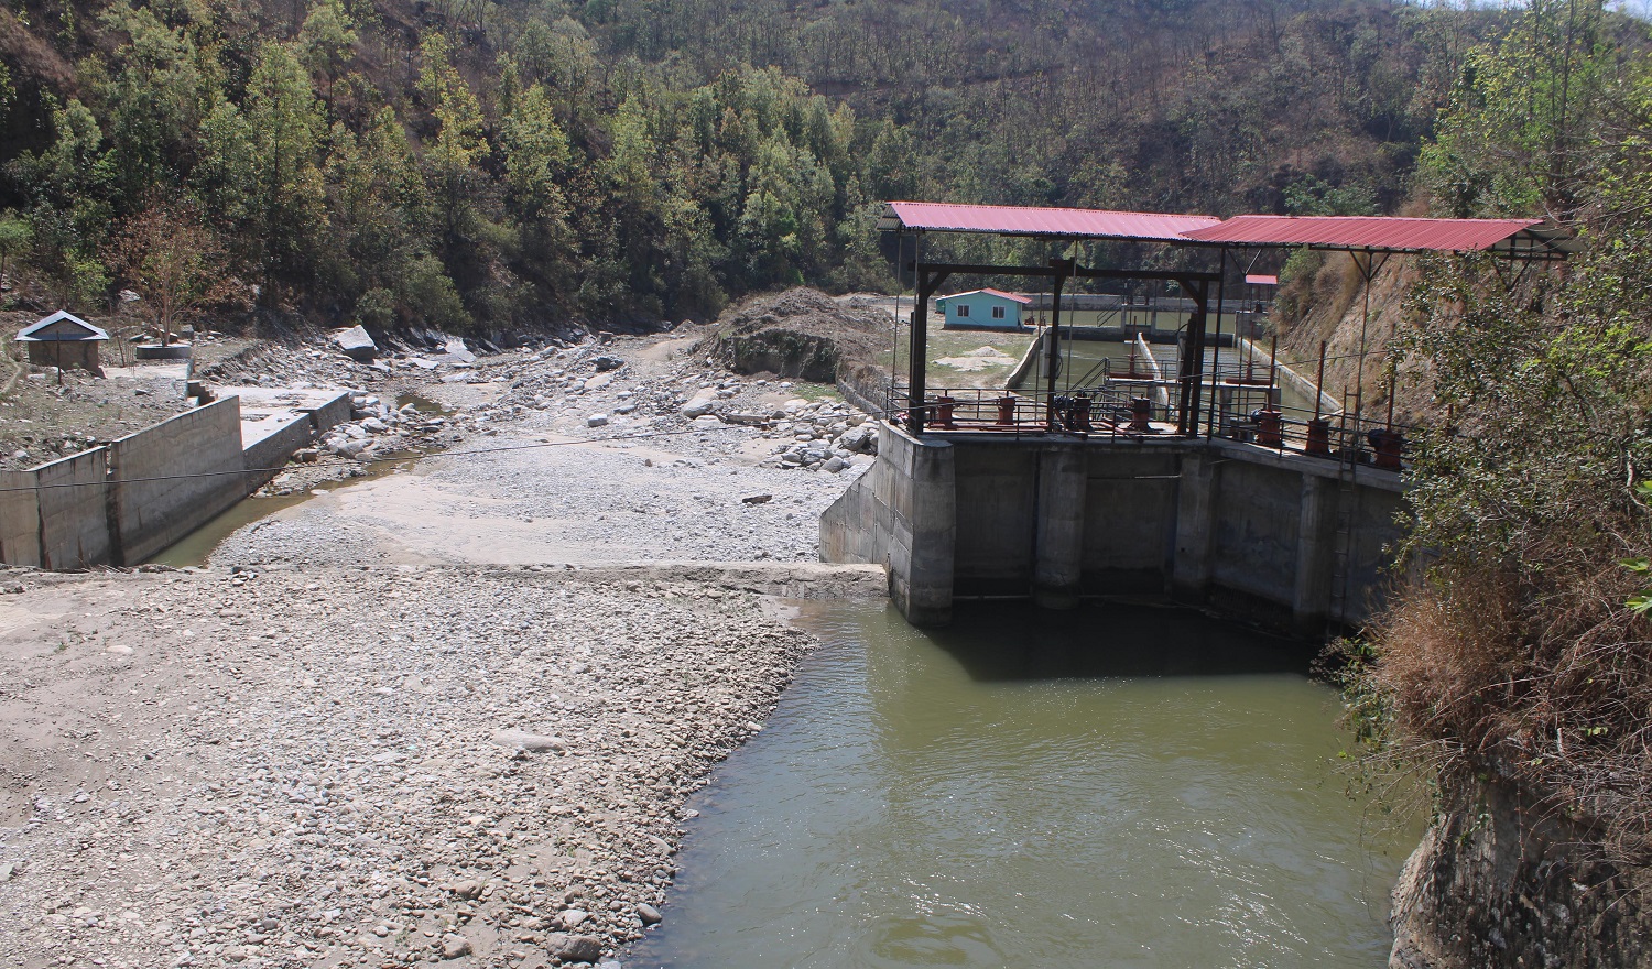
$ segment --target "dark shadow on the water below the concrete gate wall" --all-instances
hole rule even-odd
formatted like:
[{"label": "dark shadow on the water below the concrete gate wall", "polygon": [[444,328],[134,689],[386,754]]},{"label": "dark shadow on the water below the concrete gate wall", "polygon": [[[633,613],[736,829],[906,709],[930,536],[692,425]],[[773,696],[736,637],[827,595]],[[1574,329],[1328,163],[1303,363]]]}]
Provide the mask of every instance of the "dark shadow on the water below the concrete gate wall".
[{"label": "dark shadow on the water below the concrete gate wall", "polygon": [[1178,607],[957,603],[925,636],[978,682],[1307,674],[1315,649]]}]

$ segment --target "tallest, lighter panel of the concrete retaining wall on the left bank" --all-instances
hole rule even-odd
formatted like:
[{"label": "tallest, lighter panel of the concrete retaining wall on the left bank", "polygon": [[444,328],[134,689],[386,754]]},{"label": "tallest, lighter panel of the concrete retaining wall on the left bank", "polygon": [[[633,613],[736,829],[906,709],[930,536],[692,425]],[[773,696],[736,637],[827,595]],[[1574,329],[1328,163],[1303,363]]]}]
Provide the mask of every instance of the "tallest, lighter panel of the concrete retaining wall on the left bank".
[{"label": "tallest, lighter panel of the concrete retaining wall on the left bank", "polygon": [[240,398],[121,437],[109,452],[117,565],[144,561],[246,497]]}]

